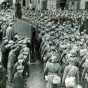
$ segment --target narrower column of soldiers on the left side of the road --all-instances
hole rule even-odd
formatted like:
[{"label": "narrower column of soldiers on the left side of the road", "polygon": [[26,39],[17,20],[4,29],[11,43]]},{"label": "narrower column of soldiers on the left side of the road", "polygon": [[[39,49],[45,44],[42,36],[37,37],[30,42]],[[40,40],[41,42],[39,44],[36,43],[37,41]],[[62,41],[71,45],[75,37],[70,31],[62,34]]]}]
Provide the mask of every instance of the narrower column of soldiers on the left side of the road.
[{"label": "narrower column of soldiers on the left side of the road", "polygon": [[0,12],[0,88],[24,88],[29,75],[30,39],[14,31],[14,11]]}]

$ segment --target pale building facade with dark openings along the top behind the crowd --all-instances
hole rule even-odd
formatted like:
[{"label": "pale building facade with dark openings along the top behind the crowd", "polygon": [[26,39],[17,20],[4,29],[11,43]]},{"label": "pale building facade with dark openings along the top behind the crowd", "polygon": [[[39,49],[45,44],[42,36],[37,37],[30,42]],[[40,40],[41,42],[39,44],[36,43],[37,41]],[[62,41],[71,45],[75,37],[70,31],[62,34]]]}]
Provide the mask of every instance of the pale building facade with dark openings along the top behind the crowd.
[{"label": "pale building facade with dark openings along the top behind the crowd", "polygon": [[[3,0],[0,0],[3,1]],[[10,0],[15,5],[17,0]],[[53,10],[66,7],[70,10],[88,9],[88,0],[20,0],[22,7],[35,8],[36,10]]]}]

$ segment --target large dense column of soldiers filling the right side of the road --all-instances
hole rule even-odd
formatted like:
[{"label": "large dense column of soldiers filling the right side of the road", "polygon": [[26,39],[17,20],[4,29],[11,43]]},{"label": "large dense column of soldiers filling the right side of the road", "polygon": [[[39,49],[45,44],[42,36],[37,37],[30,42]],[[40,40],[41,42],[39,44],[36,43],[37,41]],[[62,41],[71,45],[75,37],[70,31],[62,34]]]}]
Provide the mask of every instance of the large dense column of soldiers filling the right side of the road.
[{"label": "large dense column of soldiers filling the right side of the road", "polygon": [[[25,10],[26,11],[26,10]],[[32,12],[47,88],[88,87],[87,11]]]}]

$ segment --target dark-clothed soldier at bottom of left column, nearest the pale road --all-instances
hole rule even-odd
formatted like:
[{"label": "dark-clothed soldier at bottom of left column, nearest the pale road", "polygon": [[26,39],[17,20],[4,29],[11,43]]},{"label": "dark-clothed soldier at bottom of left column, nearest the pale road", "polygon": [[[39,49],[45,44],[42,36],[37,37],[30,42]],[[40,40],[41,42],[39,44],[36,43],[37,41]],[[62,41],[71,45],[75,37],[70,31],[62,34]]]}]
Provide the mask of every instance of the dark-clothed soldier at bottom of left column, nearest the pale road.
[{"label": "dark-clothed soldier at bottom of left column, nearest the pale road", "polygon": [[23,78],[23,71],[24,71],[24,65],[23,65],[23,59],[18,59],[18,62],[14,65],[14,75],[13,75],[13,88],[24,88],[25,86],[25,80]]}]

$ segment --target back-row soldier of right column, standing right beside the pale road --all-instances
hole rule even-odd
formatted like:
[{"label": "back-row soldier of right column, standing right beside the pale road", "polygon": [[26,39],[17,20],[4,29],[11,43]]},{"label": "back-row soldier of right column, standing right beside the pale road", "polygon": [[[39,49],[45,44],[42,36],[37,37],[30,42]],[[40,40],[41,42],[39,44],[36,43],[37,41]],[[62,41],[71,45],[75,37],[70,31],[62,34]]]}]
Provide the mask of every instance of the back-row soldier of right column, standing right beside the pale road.
[{"label": "back-row soldier of right column, standing right beside the pale road", "polygon": [[60,88],[61,66],[56,56],[51,56],[44,68],[44,75],[47,82],[47,88]]}]

